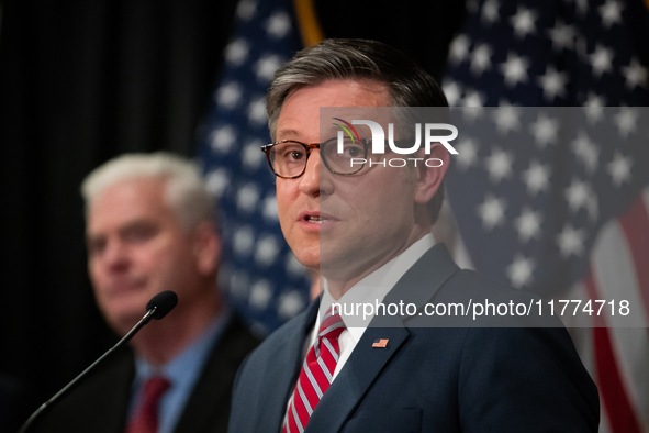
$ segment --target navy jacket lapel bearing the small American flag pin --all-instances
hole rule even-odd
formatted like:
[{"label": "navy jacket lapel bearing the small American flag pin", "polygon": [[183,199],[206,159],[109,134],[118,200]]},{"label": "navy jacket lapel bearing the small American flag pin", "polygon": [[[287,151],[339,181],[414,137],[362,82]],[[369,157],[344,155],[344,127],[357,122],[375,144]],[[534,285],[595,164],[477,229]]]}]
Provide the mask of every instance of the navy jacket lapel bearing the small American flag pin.
[{"label": "navy jacket lapel bearing the small American flag pin", "polygon": [[[405,303],[415,303],[419,309],[458,270],[446,245],[436,244],[403,275],[385,296],[383,303],[399,304],[403,300]],[[394,355],[407,345],[409,335],[400,317],[376,317],[313,411],[305,433],[340,431],[376,378]],[[372,347],[372,343],[380,338],[388,338],[388,346]]]}]

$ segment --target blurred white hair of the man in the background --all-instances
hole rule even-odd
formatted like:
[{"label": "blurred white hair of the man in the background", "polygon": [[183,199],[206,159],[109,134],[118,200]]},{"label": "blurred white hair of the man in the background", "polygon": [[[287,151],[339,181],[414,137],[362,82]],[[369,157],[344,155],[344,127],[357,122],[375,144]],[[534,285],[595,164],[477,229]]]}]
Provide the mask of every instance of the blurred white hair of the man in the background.
[{"label": "blurred white hair of the man in the background", "polygon": [[86,216],[103,190],[119,181],[138,177],[165,180],[165,198],[186,230],[214,223],[214,199],[205,189],[199,168],[191,160],[167,152],[125,154],[92,170],[81,184]]}]

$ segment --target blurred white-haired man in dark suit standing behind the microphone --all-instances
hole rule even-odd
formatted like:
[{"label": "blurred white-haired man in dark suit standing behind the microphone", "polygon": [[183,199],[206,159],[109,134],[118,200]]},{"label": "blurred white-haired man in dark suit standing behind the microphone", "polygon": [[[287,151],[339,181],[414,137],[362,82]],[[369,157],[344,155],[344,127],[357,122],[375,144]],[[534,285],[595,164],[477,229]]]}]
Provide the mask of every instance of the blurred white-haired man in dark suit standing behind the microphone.
[{"label": "blurred white-haired man in dark suit standing behind the microphone", "polygon": [[38,424],[43,432],[225,432],[236,370],[258,344],[216,287],[214,201],[197,167],[171,154],[110,160],[82,185],[98,306],[124,335],[164,290],[152,321]]}]

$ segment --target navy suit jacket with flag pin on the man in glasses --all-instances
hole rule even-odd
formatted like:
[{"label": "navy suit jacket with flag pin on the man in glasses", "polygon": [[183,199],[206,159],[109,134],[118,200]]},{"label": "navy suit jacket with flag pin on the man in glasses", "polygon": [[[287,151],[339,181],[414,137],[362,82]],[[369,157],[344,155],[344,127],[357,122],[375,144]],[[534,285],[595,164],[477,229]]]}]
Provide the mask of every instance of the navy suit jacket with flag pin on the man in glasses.
[{"label": "navy suit jacket with flag pin on the man in glasses", "polygon": [[[458,293],[462,293],[461,296]],[[525,296],[429,249],[383,303]],[[281,431],[318,302],[244,362],[230,433]],[[374,318],[377,320],[377,318]],[[388,338],[385,348],[372,347]],[[563,327],[368,327],[315,408],[315,432],[596,432],[597,390]]]}]

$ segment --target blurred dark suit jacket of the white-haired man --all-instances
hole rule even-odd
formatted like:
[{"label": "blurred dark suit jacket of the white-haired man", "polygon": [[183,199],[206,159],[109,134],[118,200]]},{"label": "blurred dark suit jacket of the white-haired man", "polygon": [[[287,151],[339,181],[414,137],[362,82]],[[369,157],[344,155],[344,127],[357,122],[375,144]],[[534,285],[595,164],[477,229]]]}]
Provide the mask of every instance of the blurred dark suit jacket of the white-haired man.
[{"label": "blurred dark suit jacket of the white-haired man", "polygon": [[[259,344],[236,315],[216,341],[189,397],[176,433],[224,433],[232,384],[242,360]],[[132,351],[112,357],[100,370],[55,404],[30,432],[123,433],[135,378]]]}]

